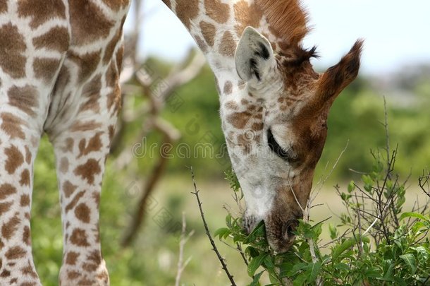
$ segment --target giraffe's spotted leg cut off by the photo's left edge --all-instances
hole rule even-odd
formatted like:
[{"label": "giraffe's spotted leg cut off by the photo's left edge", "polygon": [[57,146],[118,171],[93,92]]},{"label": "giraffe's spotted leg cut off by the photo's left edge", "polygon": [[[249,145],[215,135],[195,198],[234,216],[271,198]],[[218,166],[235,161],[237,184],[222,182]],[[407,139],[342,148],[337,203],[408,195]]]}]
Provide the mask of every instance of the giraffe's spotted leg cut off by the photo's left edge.
[{"label": "giraffe's spotted leg cut off by the photo's left edge", "polygon": [[32,259],[30,208],[42,126],[30,124],[1,95],[0,90],[0,285],[40,285]]}]

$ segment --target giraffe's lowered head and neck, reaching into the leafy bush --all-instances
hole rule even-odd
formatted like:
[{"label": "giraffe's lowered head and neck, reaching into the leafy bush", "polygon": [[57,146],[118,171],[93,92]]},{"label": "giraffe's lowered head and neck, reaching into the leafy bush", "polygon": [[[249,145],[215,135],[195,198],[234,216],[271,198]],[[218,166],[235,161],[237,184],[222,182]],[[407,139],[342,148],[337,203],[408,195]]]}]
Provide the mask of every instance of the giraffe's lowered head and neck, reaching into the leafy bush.
[{"label": "giraffe's lowered head and neck, reaching into the leafy bush", "polygon": [[298,0],[163,0],[207,57],[219,91],[231,163],[249,233],[264,220],[272,249],[287,251],[312,188],[333,101],[356,77],[362,40],[324,73],[305,49]]}]

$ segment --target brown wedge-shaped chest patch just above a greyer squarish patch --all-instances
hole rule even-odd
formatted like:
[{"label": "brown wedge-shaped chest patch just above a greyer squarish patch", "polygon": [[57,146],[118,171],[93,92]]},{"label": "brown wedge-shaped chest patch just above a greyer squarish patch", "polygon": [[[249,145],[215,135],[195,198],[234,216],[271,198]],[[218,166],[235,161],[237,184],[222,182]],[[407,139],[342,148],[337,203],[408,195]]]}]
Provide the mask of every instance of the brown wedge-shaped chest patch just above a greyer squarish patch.
[{"label": "brown wedge-shaped chest patch just above a greyer squarish patch", "polygon": [[39,37],[33,38],[36,49],[49,49],[58,52],[66,52],[70,45],[70,35],[67,28],[54,27]]}]

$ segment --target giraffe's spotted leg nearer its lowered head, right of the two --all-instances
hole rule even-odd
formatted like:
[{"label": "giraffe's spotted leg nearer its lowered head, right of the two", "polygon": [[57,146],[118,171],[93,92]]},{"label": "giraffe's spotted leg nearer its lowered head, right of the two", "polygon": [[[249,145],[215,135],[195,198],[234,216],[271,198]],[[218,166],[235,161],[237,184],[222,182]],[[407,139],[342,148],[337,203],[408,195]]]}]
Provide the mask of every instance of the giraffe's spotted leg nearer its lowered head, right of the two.
[{"label": "giraffe's spotted leg nearer its lowered head, right of the two", "polygon": [[63,286],[109,285],[99,241],[99,198],[109,153],[108,129],[65,131],[65,136],[53,142],[63,220],[59,277]]}]

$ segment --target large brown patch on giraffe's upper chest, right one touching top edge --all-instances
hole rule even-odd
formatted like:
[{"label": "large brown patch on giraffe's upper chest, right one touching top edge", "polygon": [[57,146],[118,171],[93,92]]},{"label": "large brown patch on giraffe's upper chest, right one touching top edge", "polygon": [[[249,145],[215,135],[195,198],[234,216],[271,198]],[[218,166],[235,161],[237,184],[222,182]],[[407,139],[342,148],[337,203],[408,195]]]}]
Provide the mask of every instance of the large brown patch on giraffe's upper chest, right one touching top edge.
[{"label": "large brown patch on giraffe's upper chest, right one touching top edge", "polygon": [[69,1],[69,9],[73,44],[87,44],[109,35],[113,20],[107,19],[97,4],[73,0]]}]

